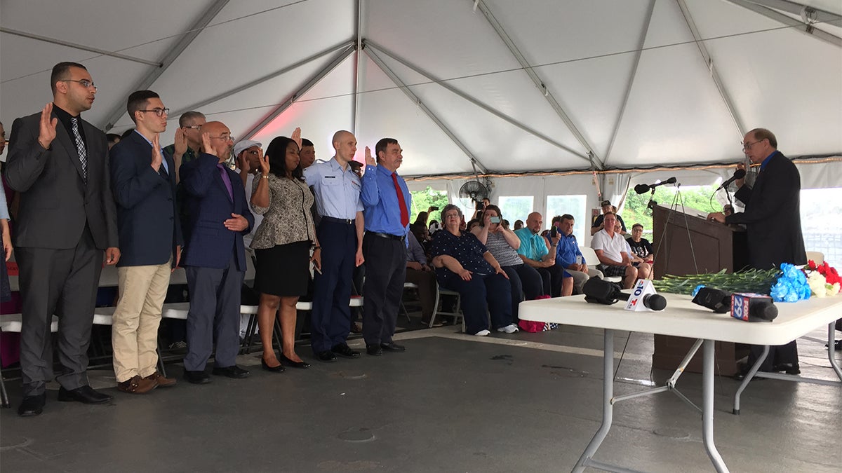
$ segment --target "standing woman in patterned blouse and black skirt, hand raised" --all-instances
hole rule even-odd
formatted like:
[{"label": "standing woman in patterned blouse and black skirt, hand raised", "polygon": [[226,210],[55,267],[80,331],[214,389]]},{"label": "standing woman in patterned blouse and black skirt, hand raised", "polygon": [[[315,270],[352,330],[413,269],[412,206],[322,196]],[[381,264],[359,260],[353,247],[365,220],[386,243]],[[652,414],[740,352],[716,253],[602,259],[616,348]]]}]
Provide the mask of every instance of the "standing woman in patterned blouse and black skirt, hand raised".
[{"label": "standing woman in patterned blouse and black skirt, hand raised", "polygon": [[[301,130],[296,129],[293,138],[278,136],[269,143],[266,156],[260,157],[260,178],[254,180],[251,199],[254,213],[264,215],[251,244],[257,256],[254,289],[260,293],[261,364],[274,372],[283,371],[284,364],[310,366],[295,351],[296,303],[306,294],[310,262],[320,267],[321,252],[310,211],[313,195],[304,182],[298,156],[300,140]],[[315,247],[312,258],[311,247]],[[281,361],[272,349],[275,312],[282,335]]]}]

